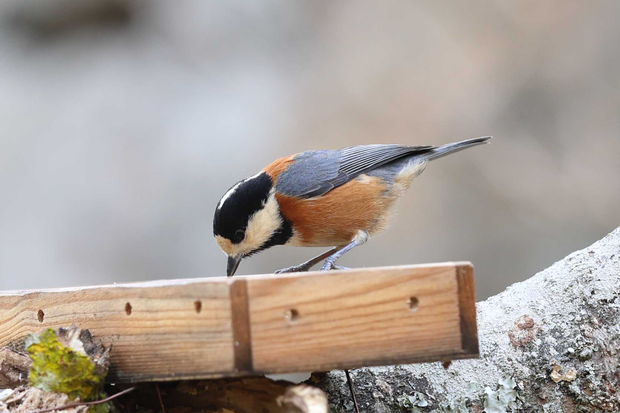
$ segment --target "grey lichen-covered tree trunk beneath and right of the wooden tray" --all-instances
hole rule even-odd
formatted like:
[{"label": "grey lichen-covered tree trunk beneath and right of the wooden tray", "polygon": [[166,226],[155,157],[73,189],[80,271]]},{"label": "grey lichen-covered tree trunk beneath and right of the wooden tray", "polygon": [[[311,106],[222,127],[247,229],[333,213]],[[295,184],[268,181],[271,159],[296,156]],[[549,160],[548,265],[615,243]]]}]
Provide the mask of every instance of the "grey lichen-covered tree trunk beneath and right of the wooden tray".
[{"label": "grey lichen-covered tree trunk beneath and right of the wooden tray", "polygon": [[[476,304],[480,357],[351,372],[363,412],[620,412],[620,228]],[[342,371],[312,376],[352,411]]]}]

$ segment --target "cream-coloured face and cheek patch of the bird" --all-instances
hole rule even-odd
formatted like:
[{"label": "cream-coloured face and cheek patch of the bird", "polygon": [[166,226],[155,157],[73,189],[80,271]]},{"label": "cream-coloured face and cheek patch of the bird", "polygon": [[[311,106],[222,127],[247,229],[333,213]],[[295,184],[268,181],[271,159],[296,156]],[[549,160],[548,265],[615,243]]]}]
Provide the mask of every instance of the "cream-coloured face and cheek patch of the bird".
[{"label": "cream-coloured face and cheek patch of the bird", "polygon": [[250,216],[247,221],[246,237],[241,242],[235,243],[219,235],[215,236],[215,241],[224,251],[224,254],[229,257],[242,258],[259,250],[281,225],[282,217],[278,208],[278,201],[272,190],[267,202],[263,203],[263,208]]}]

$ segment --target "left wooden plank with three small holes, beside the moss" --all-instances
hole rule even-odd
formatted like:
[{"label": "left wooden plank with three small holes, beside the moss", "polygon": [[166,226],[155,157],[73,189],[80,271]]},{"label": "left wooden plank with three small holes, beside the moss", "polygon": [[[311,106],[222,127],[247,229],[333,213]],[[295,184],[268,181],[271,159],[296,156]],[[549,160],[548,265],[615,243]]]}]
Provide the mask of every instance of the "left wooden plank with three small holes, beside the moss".
[{"label": "left wooden plank with three small holes, beside the moss", "polygon": [[76,324],[113,346],[109,376],[117,381],[234,370],[229,287],[221,278],[0,294],[0,345]]}]

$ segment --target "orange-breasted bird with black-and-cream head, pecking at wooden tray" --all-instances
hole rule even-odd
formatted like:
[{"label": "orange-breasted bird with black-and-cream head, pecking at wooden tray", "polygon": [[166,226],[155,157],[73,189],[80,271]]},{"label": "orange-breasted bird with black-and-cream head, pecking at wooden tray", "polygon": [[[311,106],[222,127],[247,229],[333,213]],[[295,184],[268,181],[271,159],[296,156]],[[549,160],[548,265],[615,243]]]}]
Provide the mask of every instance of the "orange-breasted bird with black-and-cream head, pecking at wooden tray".
[{"label": "orange-breasted bird with black-and-cream head, pecking at wooden tray", "polygon": [[396,200],[428,161],[482,143],[490,136],[440,147],[362,145],[308,151],[277,159],[233,185],[219,200],[213,235],[228,255],[230,277],[245,257],[277,245],[332,247],[277,272],[335,265],[390,222]]}]

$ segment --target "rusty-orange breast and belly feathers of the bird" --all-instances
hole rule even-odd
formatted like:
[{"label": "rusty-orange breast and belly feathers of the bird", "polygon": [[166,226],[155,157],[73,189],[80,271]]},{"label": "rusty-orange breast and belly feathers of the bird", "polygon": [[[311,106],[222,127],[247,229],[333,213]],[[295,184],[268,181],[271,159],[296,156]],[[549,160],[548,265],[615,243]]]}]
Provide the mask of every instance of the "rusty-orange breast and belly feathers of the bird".
[{"label": "rusty-orange breast and belly feathers of the bird", "polygon": [[387,226],[396,200],[378,177],[360,175],[320,197],[299,199],[276,194],[281,213],[296,231],[291,244],[342,246],[360,229],[371,235]]}]

